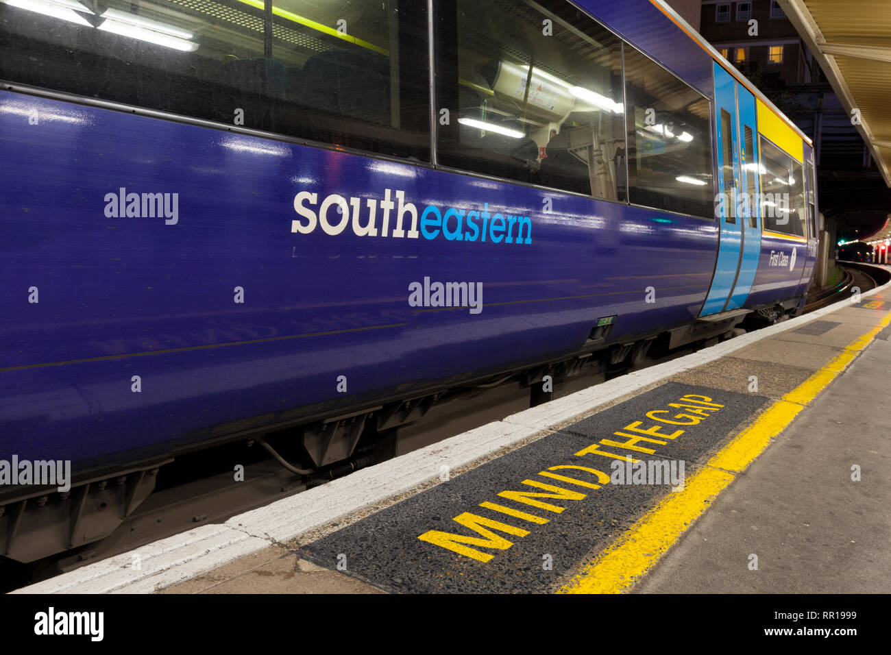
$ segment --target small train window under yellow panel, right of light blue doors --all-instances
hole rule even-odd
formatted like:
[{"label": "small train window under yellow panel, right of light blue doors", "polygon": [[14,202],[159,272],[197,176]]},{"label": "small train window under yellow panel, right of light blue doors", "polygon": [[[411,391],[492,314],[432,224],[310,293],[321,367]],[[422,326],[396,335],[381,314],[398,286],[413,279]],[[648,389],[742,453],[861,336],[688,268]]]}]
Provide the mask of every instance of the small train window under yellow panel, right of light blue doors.
[{"label": "small train window under yellow panel, right of light blue doors", "polygon": [[758,143],[764,229],[805,236],[804,167],[764,136]]}]

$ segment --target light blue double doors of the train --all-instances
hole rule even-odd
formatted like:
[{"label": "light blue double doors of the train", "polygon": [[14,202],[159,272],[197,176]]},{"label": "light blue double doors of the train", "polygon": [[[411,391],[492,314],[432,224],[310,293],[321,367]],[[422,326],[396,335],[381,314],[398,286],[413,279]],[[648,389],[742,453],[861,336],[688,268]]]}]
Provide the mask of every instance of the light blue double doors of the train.
[{"label": "light blue double doors of the train", "polygon": [[715,124],[721,241],[700,316],[745,304],[761,252],[755,96],[716,63]]}]

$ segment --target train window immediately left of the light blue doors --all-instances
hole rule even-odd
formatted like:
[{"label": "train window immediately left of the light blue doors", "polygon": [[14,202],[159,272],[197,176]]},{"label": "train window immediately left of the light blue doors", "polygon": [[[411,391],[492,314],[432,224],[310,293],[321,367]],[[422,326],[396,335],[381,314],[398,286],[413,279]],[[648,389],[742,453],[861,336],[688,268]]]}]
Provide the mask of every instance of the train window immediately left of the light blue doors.
[{"label": "train window immediately left of the light blue doors", "polygon": [[625,46],[625,103],[630,200],[714,218],[707,98]]}]

